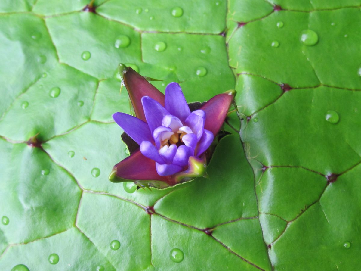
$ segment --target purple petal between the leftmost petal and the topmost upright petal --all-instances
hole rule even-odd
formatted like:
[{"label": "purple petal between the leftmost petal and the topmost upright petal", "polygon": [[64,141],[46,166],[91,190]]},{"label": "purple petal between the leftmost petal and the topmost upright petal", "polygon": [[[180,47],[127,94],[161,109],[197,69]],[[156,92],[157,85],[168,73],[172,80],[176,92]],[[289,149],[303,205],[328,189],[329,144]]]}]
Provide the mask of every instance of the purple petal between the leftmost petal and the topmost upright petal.
[{"label": "purple petal between the leftmost petal and the topmost upright petal", "polygon": [[159,127],[162,126],[162,120],[165,115],[169,115],[169,112],[165,110],[165,108],[152,98],[148,96],[144,96],[142,98],[142,104],[145,114],[145,119],[147,119],[147,123],[149,125],[149,129],[151,129],[151,133]]}]

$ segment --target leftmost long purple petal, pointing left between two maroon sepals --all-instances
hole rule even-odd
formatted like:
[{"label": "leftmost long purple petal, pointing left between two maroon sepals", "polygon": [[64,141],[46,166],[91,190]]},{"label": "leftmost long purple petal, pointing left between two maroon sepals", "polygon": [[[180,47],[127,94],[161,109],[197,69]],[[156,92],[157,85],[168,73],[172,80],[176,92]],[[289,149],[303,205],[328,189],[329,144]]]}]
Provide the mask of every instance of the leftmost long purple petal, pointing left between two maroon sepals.
[{"label": "leftmost long purple petal, pointing left between two maroon sepals", "polygon": [[146,122],[120,112],[113,114],[113,120],[139,145],[142,141],[154,141]]}]

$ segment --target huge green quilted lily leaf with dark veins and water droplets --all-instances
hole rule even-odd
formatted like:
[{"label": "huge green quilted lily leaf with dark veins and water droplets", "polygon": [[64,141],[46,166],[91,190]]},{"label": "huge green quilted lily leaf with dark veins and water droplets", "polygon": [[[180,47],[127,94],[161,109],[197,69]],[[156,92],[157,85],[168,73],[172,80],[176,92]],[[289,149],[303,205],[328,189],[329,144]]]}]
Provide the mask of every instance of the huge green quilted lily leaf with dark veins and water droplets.
[{"label": "huge green quilted lily leaf with dark veins and water droplets", "polygon": [[[357,270],[360,7],[1,1],[0,270]],[[188,102],[237,90],[208,179],[108,181],[118,63]]]}]

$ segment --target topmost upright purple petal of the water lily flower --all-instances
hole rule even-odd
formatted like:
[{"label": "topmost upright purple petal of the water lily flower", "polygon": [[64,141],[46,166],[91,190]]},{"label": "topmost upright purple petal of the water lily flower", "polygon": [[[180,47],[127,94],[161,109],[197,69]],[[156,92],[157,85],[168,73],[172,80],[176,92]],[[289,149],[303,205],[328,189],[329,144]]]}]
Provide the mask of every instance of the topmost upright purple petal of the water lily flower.
[{"label": "topmost upright purple petal of the water lily flower", "polygon": [[183,122],[191,113],[178,83],[170,83],[165,88],[165,108],[171,115],[179,117]]}]

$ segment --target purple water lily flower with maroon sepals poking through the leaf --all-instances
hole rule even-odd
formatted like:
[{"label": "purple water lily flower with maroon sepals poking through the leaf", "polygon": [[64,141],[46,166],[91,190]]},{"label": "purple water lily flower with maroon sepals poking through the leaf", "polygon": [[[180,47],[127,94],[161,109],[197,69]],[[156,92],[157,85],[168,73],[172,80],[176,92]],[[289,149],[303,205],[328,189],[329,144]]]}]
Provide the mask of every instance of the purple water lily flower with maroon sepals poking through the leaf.
[{"label": "purple water lily flower with maroon sepals poking through the leaf", "polygon": [[205,153],[217,136],[235,91],[214,96],[193,112],[178,83],[165,95],[132,68],[119,65],[136,117],[114,113],[114,121],[139,145],[116,164],[112,182],[165,188],[205,175]]}]

